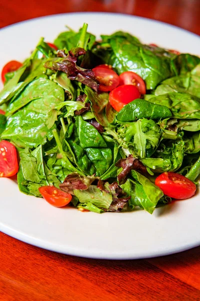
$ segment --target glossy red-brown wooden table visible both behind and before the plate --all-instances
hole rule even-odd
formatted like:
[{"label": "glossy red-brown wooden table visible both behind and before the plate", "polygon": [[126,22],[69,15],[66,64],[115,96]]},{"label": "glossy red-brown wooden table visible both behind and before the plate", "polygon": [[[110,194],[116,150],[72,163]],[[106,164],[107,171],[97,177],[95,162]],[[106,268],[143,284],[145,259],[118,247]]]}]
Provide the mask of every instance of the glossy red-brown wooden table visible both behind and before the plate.
[{"label": "glossy red-brown wooden table visible both behind and before the plate", "polygon": [[[75,11],[132,14],[200,34],[199,0],[7,0],[0,4],[0,27]],[[143,260],[94,260],[0,233],[0,300],[200,300],[200,247]]]}]

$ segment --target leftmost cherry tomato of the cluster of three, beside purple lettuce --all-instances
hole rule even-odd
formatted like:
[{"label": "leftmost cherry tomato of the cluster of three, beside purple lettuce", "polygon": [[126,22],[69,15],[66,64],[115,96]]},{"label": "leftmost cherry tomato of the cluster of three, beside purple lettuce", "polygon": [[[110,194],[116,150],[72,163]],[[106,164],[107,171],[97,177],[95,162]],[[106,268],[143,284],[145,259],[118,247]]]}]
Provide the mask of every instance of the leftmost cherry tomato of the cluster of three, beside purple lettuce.
[{"label": "leftmost cherry tomato of the cluster of three, beside purple lettuce", "polygon": [[110,68],[95,67],[92,69],[96,79],[99,81],[99,91],[108,92],[112,91],[119,84],[118,75]]}]

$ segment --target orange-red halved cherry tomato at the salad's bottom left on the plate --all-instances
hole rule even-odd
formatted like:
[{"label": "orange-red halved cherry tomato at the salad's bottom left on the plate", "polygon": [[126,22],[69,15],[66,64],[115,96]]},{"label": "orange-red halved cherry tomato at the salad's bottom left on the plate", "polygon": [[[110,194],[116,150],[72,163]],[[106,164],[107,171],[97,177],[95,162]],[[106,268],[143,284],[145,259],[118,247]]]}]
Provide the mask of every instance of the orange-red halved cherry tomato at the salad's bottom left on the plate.
[{"label": "orange-red halved cherry tomato at the salad's bottom left on the plate", "polygon": [[39,192],[49,204],[55,207],[63,207],[70,203],[72,196],[54,186],[39,187]]}]

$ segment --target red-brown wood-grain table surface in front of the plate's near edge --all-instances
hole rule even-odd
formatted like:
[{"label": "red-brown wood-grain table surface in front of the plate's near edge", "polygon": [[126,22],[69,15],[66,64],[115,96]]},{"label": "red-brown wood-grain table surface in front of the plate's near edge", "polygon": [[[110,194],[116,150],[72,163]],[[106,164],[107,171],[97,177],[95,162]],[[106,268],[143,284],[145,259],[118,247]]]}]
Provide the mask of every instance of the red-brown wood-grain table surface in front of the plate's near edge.
[{"label": "red-brown wood-grain table surface in front of the plate's near edge", "polygon": [[117,261],[57,254],[2,233],[0,241],[2,300],[200,299],[199,283],[193,285],[184,276],[188,271],[198,273],[195,279],[199,280],[200,248],[148,260]]}]

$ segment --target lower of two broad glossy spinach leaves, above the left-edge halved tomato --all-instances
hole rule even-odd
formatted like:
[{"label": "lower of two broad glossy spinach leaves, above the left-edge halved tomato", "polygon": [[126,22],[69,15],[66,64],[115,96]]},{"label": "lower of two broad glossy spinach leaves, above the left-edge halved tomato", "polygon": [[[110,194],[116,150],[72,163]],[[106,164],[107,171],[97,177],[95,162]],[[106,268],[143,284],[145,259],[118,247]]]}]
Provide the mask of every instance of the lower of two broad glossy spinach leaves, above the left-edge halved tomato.
[{"label": "lower of two broad glossy spinach leaves, above the left-edge halved tomato", "polygon": [[20,147],[37,147],[44,144],[46,138],[52,139],[52,130],[45,124],[46,115],[23,109],[9,117],[2,132],[3,139],[10,139]]}]

